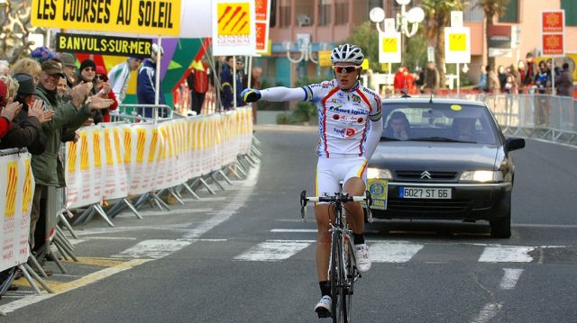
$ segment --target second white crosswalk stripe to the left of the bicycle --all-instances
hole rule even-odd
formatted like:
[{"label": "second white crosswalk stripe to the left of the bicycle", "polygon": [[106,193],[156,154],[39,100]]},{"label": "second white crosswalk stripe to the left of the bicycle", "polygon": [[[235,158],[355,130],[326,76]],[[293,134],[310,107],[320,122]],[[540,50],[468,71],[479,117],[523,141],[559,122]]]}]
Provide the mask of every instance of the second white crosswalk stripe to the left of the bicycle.
[{"label": "second white crosswalk stripe to the left of the bicycle", "polygon": [[144,240],[113,257],[160,259],[190,244],[190,241],[182,240]]}]

